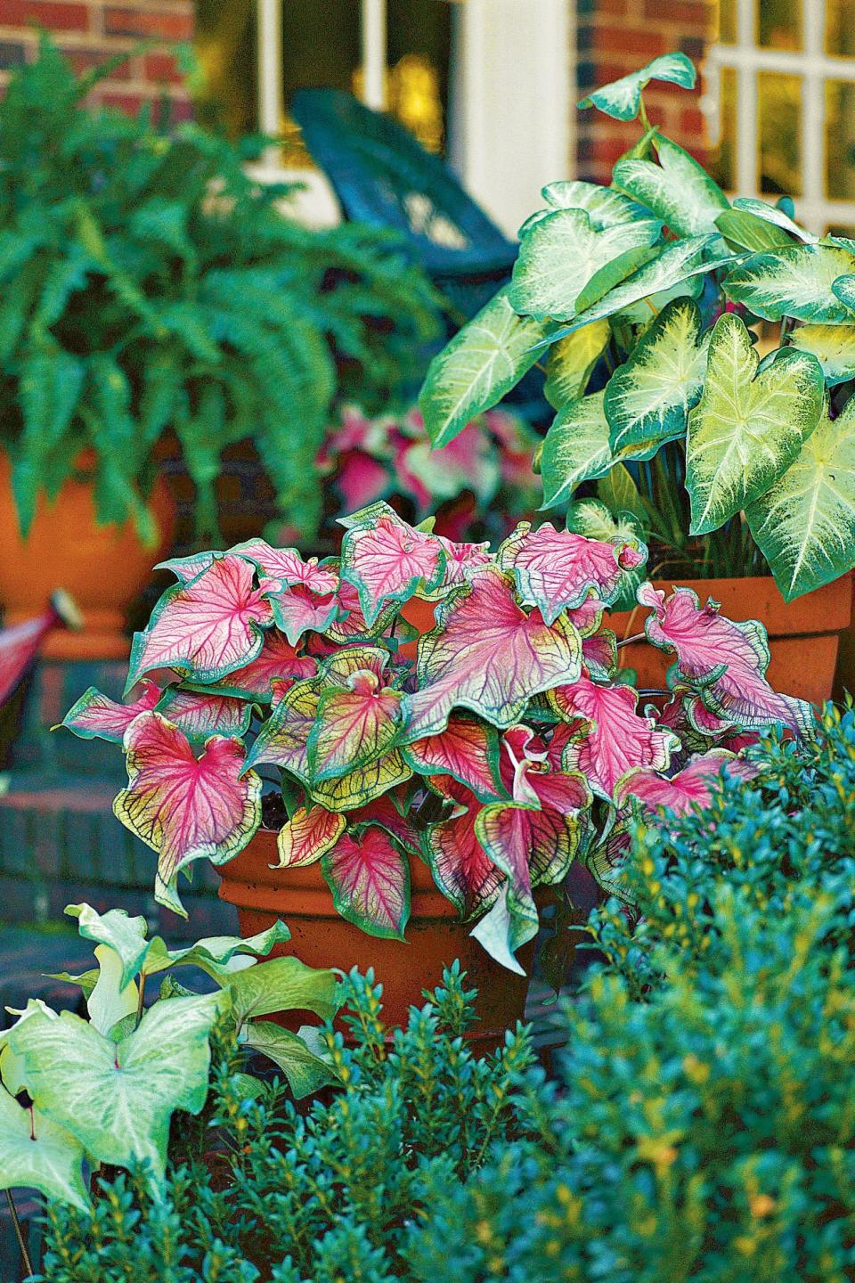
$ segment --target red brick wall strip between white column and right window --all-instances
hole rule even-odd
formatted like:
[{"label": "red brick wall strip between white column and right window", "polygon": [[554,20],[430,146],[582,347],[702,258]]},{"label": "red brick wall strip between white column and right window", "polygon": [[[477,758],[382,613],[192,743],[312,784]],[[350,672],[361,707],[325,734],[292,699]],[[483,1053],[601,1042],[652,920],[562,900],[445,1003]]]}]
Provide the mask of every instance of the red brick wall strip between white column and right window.
[{"label": "red brick wall strip between white column and right window", "polygon": [[[715,0],[577,0],[579,98],[676,49],[700,68],[715,8]],[[706,146],[701,91],[700,77],[693,91],[665,83],[645,90],[651,123],[699,160]],[[638,126],[590,109],[578,117],[577,139],[578,176],[609,182],[614,162],[637,141]]]}]

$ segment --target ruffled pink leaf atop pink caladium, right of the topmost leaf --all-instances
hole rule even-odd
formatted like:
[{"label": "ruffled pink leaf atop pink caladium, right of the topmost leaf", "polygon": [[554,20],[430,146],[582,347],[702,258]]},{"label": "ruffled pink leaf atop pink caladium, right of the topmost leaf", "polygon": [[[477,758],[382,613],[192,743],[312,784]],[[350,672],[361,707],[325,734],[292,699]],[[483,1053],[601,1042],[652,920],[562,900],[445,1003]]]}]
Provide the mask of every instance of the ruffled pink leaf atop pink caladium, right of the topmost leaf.
[{"label": "ruffled pink leaf atop pink caladium, right of the topmost leaf", "polygon": [[519,594],[537,606],[546,624],[561,611],[582,606],[588,593],[613,602],[620,577],[636,570],[646,549],[629,543],[601,543],[569,530],[555,530],[546,521],[537,530],[522,522],[499,549],[499,565],[513,571]]}]

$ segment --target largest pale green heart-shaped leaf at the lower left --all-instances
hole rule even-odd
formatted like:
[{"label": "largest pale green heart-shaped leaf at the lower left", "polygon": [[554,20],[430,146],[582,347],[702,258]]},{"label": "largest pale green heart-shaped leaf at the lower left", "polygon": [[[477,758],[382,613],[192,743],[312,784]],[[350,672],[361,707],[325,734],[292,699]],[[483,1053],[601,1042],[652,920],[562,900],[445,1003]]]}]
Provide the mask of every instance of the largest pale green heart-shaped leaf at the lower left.
[{"label": "largest pale green heart-shaped leaf at the lower left", "polygon": [[159,1184],[173,1112],[199,1114],[205,1103],[209,1035],[224,1002],[222,993],[158,1002],[119,1043],[69,1011],[58,1019],[35,1012],[10,1044],[40,1112],[99,1162],[127,1168],[147,1159]]}]

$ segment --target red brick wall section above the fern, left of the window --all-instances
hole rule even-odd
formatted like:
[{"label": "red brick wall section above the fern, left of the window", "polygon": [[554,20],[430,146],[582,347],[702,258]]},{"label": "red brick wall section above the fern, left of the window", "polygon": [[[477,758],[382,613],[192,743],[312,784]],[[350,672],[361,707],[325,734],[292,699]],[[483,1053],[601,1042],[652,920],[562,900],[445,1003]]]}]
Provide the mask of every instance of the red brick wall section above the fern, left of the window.
[{"label": "red brick wall section above the fern, left of the window", "polygon": [[[0,0],[0,92],[9,74],[31,62],[37,28],[50,31],[78,71],[133,49],[140,40],[183,41],[194,33],[194,0]],[[92,100],[136,112],[163,92],[172,100],[173,118],[191,114],[181,73],[167,47],[136,53]]]}]

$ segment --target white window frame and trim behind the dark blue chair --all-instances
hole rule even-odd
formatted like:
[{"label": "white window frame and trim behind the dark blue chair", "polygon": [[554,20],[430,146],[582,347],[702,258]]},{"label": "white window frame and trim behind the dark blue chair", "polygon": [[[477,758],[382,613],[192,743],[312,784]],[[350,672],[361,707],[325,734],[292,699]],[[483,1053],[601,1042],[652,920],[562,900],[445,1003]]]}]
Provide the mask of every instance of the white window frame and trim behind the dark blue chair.
[{"label": "white window frame and trim behind the dark blue chair", "polygon": [[[285,0],[287,4],[287,0]],[[574,0],[450,0],[452,24],[451,160],[465,187],[509,235],[537,208],[540,189],[574,176]],[[276,135],[282,113],[283,0],[256,0],[258,108],[261,132]],[[386,105],[386,0],[360,0],[361,99]],[[297,210],[315,225],[336,222],[329,183],[317,171],[282,169],[273,149],[261,180],[306,185]]]}]

